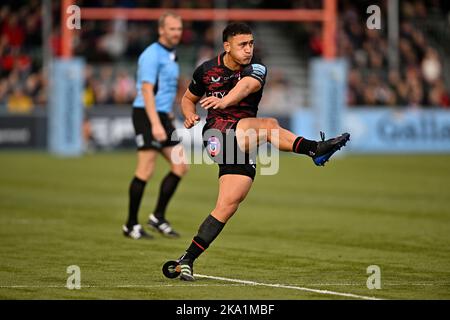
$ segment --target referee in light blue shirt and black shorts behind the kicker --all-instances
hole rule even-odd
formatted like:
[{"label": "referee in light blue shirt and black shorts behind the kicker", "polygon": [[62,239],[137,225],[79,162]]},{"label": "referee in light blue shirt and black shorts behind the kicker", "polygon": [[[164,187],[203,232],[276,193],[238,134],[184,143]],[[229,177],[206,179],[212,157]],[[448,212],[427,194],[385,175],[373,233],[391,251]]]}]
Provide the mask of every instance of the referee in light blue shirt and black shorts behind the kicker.
[{"label": "referee in light blue shirt and black shorts behind the kicker", "polygon": [[[158,153],[170,163],[170,172],[161,182],[158,200],[148,224],[168,237],[179,237],[165,219],[167,204],[181,178],[188,171],[184,163],[175,163],[171,154],[184,157],[184,150],[172,124],[172,106],[175,100],[179,66],[175,53],[183,32],[180,16],[165,13],[159,18],[158,41],[148,46],[139,57],[137,95],[133,102],[133,125],[136,132],[137,166],[129,188],[128,221],[123,234],[132,239],[151,239],[138,223],[138,211],[145,185],[151,178]],[[175,152],[175,153],[173,153]]]}]

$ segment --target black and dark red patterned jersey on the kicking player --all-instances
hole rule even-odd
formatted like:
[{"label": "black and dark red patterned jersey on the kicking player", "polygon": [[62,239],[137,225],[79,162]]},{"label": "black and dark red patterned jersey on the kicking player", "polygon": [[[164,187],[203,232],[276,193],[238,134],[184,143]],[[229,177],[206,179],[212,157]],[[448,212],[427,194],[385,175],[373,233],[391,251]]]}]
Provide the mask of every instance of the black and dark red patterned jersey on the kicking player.
[{"label": "black and dark red patterned jersey on the kicking player", "polygon": [[266,66],[253,56],[248,65],[242,66],[240,70],[233,71],[223,63],[224,55],[225,52],[197,67],[189,85],[189,91],[198,97],[206,94],[207,97],[214,95],[223,98],[240,79],[252,77],[261,83],[260,90],[249,94],[237,105],[228,106],[225,109],[208,109],[206,121],[217,117],[234,120],[256,117],[258,104],[261,101],[266,82]]}]

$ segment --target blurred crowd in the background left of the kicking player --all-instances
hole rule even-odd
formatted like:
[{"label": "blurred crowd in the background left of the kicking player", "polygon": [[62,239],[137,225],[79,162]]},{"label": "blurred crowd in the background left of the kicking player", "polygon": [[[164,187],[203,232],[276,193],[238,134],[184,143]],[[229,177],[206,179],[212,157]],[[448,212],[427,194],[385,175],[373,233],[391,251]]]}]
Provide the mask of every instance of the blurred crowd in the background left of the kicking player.
[{"label": "blurred crowd in the background left of the kicking player", "polygon": [[[151,1],[150,1],[151,2]],[[149,1],[77,1],[80,6],[148,7]],[[155,7],[173,7],[170,1],[153,1]],[[196,2],[201,4],[202,1]],[[203,1],[212,5],[211,1]],[[181,1],[178,5],[188,5]],[[50,44],[53,57],[61,55],[59,1],[53,2]],[[179,51],[182,63],[191,66],[215,55],[212,24],[184,23]],[[83,21],[75,31],[74,54],[85,58],[84,104],[127,105],[135,97],[135,70],[139,54],[157,40],[155,21]],[[27,113],[45,107],[48,97],[43,67],[41,2],[10,1],[0,4],[0,111]],[[185,76],[186,74],[186,76]],[[180,94],[189,82],[187,72],[180,79]]]}]

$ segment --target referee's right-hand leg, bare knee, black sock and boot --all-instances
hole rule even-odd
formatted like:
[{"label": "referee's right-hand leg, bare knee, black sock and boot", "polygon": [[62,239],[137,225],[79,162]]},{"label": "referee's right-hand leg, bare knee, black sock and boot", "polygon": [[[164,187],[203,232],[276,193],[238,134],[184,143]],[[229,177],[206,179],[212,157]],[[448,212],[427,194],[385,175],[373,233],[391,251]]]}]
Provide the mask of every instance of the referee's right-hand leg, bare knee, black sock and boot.
[{"label": "referee's right-hand leg, bare knee, black sock and boot", "polygon": [[150,214],[148,224],[165,236],[177,238],[180,235],[172,228],[165,217],[166,208],[177,189],[178,183],[188,172],[189,168],[184,148],[181,144],[163,148],[161,154],[170,163],[170,172],[161,182],[156,207],[153,213]]}]

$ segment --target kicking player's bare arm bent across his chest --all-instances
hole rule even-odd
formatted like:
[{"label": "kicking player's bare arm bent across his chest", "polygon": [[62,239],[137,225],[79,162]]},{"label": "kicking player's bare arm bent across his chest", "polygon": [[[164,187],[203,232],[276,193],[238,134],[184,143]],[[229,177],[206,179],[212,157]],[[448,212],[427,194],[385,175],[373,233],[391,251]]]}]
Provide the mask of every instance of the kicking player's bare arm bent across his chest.
[{"label": "kicking player's bare arm bent across his chest", "polygon": [[244,77],[238,81],[236,86],[228,92],[228,94],[219,99],[211,96],[200,101],[200,105],[205,108],[225,109],[229,106],[238,104],[242,99],[245,99],[249,94],[261,89],[261,83],[252,78]]}]

